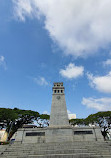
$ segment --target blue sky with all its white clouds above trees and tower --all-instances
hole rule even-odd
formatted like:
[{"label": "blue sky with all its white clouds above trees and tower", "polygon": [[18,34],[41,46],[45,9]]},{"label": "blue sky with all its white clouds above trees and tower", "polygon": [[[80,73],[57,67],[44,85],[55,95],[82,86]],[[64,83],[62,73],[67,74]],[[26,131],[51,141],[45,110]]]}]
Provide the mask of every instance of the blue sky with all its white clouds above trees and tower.
[{"label": "blue sky with all its white clouds above trees and tower", "polygon": [[50,113],[62,81],[78,118],[111,110],[110,5],[0,0],[0,107]]}]

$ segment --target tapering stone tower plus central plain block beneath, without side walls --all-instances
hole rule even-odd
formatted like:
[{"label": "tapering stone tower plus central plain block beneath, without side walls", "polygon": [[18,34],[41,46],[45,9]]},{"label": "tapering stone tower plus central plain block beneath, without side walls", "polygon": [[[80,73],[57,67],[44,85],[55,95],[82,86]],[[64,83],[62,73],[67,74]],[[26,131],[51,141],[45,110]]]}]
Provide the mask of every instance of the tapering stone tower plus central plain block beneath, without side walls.
[{"label": "tapering stone tower plus central plain block beneath, without side walls", "polygon": [[69,125],[63,82],[55,82],[52,90],[52,106],[46,142],[72,142],[73,131]]}]

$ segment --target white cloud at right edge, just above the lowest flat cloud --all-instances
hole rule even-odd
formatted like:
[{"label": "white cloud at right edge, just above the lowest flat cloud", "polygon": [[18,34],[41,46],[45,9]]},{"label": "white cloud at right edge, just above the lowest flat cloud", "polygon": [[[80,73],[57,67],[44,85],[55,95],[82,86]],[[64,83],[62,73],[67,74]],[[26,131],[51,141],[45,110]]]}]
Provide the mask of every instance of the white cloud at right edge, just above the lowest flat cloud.
[{"label": "white cloud at right edge, just above the lowest flat cloud", "polygon": [[103,93],[111,93],[111,72],[106,76],[87,74],[90,86]]}]

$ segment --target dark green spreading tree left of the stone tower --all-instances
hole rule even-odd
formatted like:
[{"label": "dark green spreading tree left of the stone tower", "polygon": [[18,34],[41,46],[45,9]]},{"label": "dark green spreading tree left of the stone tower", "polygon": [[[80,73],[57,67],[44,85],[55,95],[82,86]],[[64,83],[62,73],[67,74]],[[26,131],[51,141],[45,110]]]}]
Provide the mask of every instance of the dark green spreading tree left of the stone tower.
[{"label": "dark green spreading tree left of the stone tower", "polygon": [[[40,115],[38,112],[32,110],[0,108],[0,122],[4,122],[4,126],[6,126],[6,130],[9,133],[8,139],[10,139],[23,124],[33,123],[35,120],[39,122],[38,125],[40,127],[48,126],[49,115]],[[1,128],[3,128],[3,126],[1,126]]]}]

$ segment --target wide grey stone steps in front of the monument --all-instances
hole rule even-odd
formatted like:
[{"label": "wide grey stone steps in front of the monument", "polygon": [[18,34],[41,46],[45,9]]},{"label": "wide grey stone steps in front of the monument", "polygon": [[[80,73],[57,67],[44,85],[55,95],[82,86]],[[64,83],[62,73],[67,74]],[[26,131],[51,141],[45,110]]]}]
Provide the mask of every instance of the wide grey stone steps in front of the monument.
[{"label": "wide grey stone steps in front of the monument", "polygon": [[4,147],[0,158],[111,158],[111,141],[14,143]]}]

